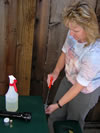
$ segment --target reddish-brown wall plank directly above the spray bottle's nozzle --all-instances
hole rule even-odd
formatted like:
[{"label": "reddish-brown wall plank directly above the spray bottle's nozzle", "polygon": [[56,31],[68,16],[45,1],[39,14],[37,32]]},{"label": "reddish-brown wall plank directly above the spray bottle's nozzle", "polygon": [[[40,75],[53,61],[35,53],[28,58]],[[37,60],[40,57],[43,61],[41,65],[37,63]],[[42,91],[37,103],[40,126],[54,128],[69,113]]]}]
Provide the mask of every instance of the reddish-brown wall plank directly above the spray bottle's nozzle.
[{"label": "reddish-brown wall plank directly above the spray bottle's nozzle", "polygon": [[17,0],[6,0],[5,2],[8,5],[6,18],[6,75],[8,78],[10,74],[16,76]]}]

